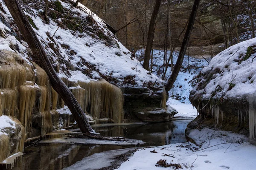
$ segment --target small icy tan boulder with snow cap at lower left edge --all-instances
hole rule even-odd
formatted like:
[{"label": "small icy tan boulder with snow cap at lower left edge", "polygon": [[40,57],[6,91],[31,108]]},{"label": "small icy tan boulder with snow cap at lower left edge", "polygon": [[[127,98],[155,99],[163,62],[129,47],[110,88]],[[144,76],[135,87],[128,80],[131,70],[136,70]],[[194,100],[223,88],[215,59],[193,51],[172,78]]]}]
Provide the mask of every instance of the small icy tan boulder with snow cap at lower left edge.
[{"label": "small icy tan boulder with snow cap at lower left edge", "polygon": [[25,128],[11,116],[0,116],[0,162],[14,153],[22,152]]}]

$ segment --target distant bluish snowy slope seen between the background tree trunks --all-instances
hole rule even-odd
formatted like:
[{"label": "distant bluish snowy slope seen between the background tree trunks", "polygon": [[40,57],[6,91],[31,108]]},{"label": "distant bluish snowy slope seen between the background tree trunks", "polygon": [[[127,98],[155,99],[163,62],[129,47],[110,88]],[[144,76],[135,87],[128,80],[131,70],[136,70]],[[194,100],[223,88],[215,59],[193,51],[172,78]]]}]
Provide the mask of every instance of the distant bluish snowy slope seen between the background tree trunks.
[{"label": "distant bluish snowy slope seen between the background tree trunks", "polygon": [[[141,58],[144,55],[144,50],[139,50],[136,53],[137,58]],[[169,58],[170,51],[167,51],[167,58]],[[163,76],[163,60],[164,60],[164,51],[163,50],[154,50],[153,51],[153,73],[157,75],[157,77],[162,78]],[[177,61],[178,52],[175,51],[173,55],[174,65]],[[193,58],[185,55],[182,68],[180,73],[174,83],[173,88],[169,91],[169,97],[173,99],[177,99],[183,103],[190,103],[189,101],[189,93],[192,90],[192,79],[196,75],[200,73],[202,67],[208,65],[210,59],[203,58]],[[151,63],[151,61],[149,62]],[[151,68],[151,66],[150,66]],[[191,68],[184,69],[184,68]],[[172,74],[171,71],[171,62],[169,62],[169,67],[166,72],[165,79],[168,79]]]}]

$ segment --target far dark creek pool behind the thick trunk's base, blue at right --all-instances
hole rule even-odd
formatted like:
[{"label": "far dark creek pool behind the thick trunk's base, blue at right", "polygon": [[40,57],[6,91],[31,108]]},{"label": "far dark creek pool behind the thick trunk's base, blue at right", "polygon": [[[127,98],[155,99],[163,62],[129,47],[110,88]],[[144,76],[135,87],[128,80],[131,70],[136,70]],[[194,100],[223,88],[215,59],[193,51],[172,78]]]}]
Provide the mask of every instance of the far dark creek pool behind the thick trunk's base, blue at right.
[{"label": "far dark creek pool behind the thick trunk's base, blue at right", "polygon": [[160,146],[186,142],[185,129],[190,120],[163,123],[131,123],[125,125],[93,125],[102,136],[123,136],[147,142],[146,146]]}]

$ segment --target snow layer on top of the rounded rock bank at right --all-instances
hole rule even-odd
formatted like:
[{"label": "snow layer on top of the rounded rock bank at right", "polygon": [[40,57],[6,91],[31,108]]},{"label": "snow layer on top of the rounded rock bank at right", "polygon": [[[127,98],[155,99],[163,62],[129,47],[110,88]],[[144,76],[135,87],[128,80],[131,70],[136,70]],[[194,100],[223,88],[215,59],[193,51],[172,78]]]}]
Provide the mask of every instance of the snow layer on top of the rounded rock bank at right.
[{"label": "snow layer on top of the rounded rock bank at right", "polygon": [[256,38],[240,42],[216,55],[198,76],[193,95],[202,94],[202,99],[241,99],[255,94],[255,51]]}]

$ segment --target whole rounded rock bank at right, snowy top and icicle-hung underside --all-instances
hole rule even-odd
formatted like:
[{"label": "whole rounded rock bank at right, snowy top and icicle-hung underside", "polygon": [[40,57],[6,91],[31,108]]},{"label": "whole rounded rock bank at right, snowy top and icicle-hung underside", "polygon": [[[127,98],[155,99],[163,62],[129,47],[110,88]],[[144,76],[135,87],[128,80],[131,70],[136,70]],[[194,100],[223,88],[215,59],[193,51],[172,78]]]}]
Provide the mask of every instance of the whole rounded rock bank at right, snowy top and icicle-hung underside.
[{"label": "whole rounded rock bank at right, snowy top and icicle-hung underside", "polygon": [[[196,77],[190,101],[201,121],[256,139],[256,38],[216,55]],[[209,121],[210,122],[210,121]],[[211,125],[209,125],[211,126]]]}]

